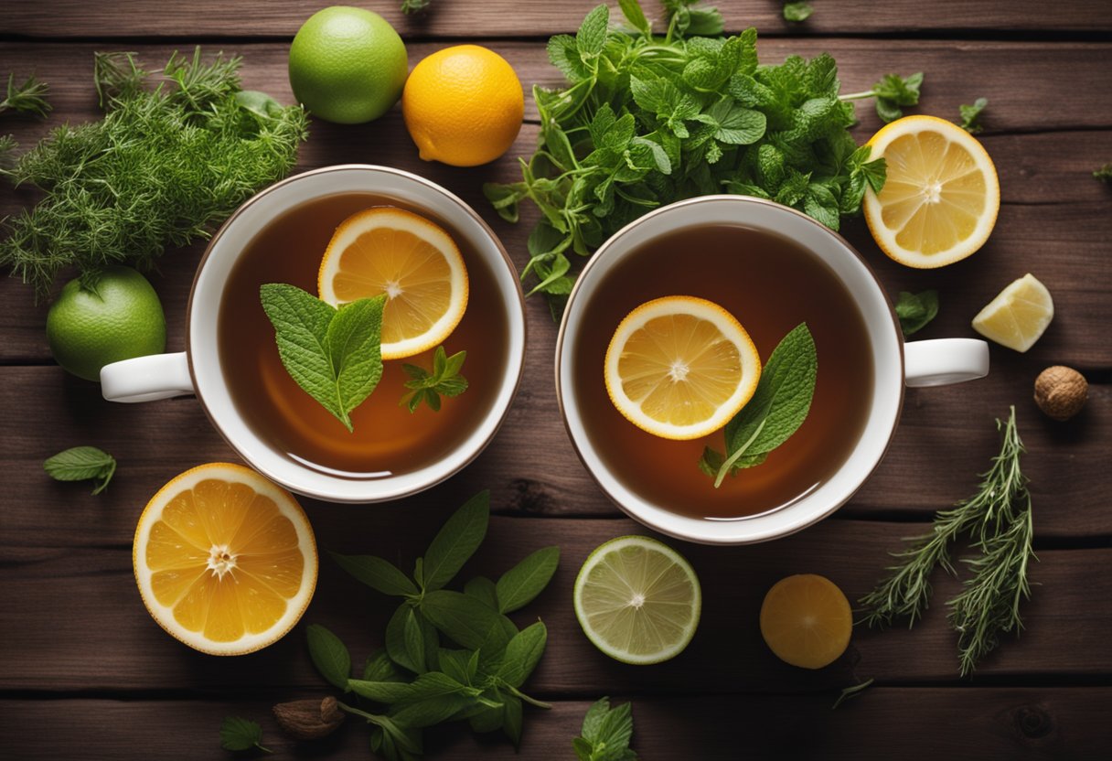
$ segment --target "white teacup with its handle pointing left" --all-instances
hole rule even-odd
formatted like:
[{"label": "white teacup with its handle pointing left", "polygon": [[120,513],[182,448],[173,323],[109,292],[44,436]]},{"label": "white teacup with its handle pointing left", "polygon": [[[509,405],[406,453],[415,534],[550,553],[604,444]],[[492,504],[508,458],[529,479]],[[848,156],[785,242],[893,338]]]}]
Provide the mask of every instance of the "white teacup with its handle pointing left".
[{"label": "white teacup with its handle pointing left", "polygon": [[[465,237],[494,273],[508,348],[494,404],[481,423],[448,456],[420,470],[387,477],[348,478],[308,467],[276,448],[242,419],[225,383],[218,350],[220,300],[232,267],[248,243],[274,219],[306,201],[344,192],[397,199],[445,220]],[[251,467],[292,492],[329,502],[384,502],[428,488],[474,459],[490,442],[517,392],[525,358],[525,304],[502,243],[467,204],[416,175],[387,167],[342,165],[296,175],[257,194],[212,236],[197,269],[186,314],[186,350],[107,365],[101,391],[113,402],[149,402],[196,394],[212,425]]]}]

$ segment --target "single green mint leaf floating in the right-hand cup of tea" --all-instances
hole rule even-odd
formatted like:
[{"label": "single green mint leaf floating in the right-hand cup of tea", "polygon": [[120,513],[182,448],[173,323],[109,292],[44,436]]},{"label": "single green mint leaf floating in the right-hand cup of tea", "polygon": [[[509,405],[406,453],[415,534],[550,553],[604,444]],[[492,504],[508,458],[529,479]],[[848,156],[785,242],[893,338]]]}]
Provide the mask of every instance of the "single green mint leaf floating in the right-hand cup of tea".
[{"label": "single green mint leaf floating in the right-hand cup of tea", "polygon": [[807,324],[800,323],[773,349],[753,398],[726,424],[725,456],[711,448],[703,453],[699,468],[713,474],[715,488],[726,475],[763,463],[803,425],[817,370],[815,340]]}]

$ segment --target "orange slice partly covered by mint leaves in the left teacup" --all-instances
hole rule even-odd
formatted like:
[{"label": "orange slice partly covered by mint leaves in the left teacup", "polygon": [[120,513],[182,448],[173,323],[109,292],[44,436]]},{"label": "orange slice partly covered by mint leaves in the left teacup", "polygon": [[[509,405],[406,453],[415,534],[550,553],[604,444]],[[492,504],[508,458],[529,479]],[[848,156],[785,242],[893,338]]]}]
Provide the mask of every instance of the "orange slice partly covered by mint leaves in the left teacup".
[{"label": "orange slice partly covered by mint leaves in the left teacup", "polygon": [[332,306],[386,294],[383,359],[400,359],[434,348],[456,329],[467,309],[467,268],[441,227],[383,206],[336,228],[317,289]]}]

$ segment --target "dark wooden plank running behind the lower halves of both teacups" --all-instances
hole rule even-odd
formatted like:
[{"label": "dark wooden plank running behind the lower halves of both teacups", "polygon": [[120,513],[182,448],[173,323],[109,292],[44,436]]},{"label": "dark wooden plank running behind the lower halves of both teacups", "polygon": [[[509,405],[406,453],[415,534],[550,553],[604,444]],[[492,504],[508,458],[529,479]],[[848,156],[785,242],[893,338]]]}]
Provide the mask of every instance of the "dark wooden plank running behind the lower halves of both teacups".
[{"label": "dark wooden plank running behind the lower halves of both teacups", "polygon": [[[539,323],[544,316],[530,318]],[[506,424],[475,463],[425,494],[366,510],[424,511],[492,488],[495,508],[506,514],[620,515],[565,434],[552,386],[553,333],[532,332],[522,389]],[[1023,470],[1032,482],[1036,536],[1112,535],[1112,476],[1105,466],[1112,451],[1112,387],[1093,386],[1081,416],[1054,423],[1031,401],[1041,365],[1005,352],[994,352],[996,366],[986,379],[910,389],[884,462],[835,516],[926,520],[971,495],[976,474],[999,451],[993,418],[1015,404],[1029,449]],[[57,367],[0,368],[0,406],[28,405],[33,425],[17,414],[0,418],[0,461],[8,465],[0,541],[7,545],[125,545],[139,507],[166,481],[198,463],[236,459],[191,398],[118,405],[100,398],[95,384]],[[79,444],[100,446],[119,459],[106,493],[91,496],[86,484],[57,483],[43,474],[46,457]]]}]

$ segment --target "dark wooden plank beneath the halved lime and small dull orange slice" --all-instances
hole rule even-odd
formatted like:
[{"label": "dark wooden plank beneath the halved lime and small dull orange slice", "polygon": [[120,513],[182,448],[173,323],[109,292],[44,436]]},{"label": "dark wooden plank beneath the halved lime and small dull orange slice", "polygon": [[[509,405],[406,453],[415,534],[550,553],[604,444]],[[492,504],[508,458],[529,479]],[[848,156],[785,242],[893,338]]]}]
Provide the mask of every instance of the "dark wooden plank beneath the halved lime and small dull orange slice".
[{"label": "dark wooden plank beneath the halved lime and small dull orange slice", "polygon": [[[379,553],[404,569],[424,551],[433,526],[459,502],[416,512],[394,508],[311,506],[321,553]],[[53,510],[58,510],[54,507]],[[133,516],[139,506],[129,508]],[[751,547],[682,545],[703,586],[703,625],[692,645],[652,670],[612,661],[579,631],[572,587],[580,564],[603,541],[643,530],[628,520],[510,518],[496,516],[484,546],[461,579],[497,577],[527,553],[549,544],[562,550],[560,567],[545,592],[522,612],[519,624],[542,619],[548,649],[527,689],[545,695],[579,696],[606,685],[614,693],[704,695],[722,692],[820,691],[860,679],[878,683],[959,684],[956,636],[943,601],[957,589],[939,576],[934,605],[914,630],[857,631],[846,654],[820,671],[778,661],[761,639],[757,614],[766,590],[793,573],[820,573],[851,600],[867,592],[898,547],[906,524],[827,521],[793,537]],[[674,543],[675,544],[675,543]],[[0,548],[6,566],[0,586],[0,690],[120,691],[317,689],[302,629],[277,644],[241,658],[212,658],[188,650],[159,629],[135,589],[129,547]],[[1024,604],[1020,641],[1004,638],[981,665],[975,684],[1007,678],[1070,682],[1112,676],[1106,632],[1112,610],[1093,601],[1112,596],[1112,550],[1040,553],[1031,570],[1034,597]],[[327,555],[317,594],[302,623],[320,623],[348,643],[356,663],[381,645],[395,607],[347,576]],[[693,674],[703,675],[693,679]],[[714,679],[709,679],[709,675]],[[999,682],[996,682],[999,683]]]}]

